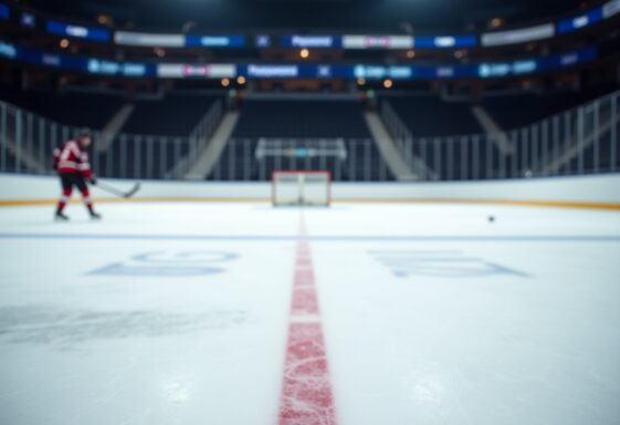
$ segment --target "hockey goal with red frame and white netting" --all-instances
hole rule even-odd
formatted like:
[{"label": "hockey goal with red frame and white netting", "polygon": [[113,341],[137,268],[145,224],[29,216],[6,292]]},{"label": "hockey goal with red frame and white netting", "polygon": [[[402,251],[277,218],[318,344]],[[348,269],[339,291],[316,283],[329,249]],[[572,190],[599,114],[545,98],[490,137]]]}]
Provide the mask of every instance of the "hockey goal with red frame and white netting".
[{"label": "hockey goal with red frame and white netting", "polygon": [[328,172],[274,172],[274,206],[329,206],[332,176]]}]

